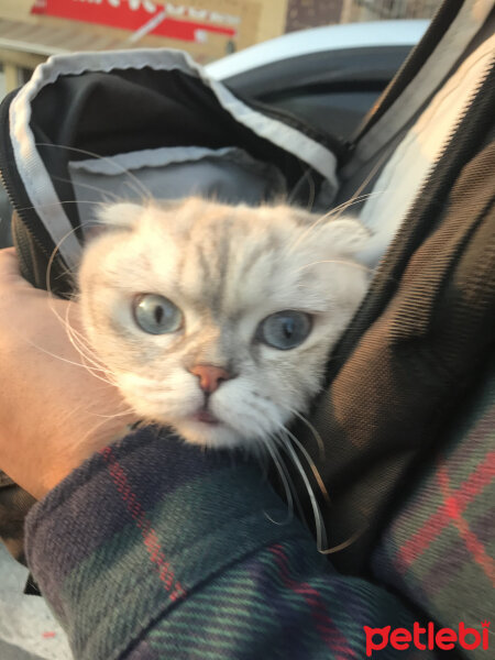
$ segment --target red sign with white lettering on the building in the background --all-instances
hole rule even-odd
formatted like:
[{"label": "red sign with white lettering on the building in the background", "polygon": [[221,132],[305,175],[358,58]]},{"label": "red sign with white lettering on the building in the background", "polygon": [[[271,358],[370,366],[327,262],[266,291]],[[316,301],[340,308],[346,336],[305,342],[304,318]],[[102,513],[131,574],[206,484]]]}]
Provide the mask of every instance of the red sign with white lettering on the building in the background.
[{"label": "red sign with white lettering on the building in the background", "polygon": [[232,38],[240,23],[239,16],[151,0],[36,0],[31,13],[189,42],[205,42],[209,32]]}]

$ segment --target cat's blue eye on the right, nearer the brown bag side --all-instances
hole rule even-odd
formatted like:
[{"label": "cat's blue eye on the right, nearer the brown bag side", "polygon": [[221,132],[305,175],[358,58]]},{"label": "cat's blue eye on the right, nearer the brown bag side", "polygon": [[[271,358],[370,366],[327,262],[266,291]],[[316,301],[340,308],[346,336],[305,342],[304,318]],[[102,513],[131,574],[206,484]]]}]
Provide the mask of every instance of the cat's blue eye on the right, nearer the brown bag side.
[{"label": "cat's blue eye on the right, nearer the brown bag side", "polygon": [[260,323],[256,338],[279,351],[300,345],[311,332],[311,317],[304,311],[277,311]]}]

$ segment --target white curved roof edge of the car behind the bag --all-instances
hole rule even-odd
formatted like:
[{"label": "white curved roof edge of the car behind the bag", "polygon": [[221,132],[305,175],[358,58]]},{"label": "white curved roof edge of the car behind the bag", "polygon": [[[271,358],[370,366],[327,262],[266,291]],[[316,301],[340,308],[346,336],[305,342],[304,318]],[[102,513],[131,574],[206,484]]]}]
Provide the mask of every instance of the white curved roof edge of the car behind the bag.
[{"label": "white curved roof edge of the car behind the bag", "polygon": [[324,25],[277,36],[206,66],[212,78],[223,79],[274,62],[319,52],[373,46],[415,45],[429,21],[375,21]]}]

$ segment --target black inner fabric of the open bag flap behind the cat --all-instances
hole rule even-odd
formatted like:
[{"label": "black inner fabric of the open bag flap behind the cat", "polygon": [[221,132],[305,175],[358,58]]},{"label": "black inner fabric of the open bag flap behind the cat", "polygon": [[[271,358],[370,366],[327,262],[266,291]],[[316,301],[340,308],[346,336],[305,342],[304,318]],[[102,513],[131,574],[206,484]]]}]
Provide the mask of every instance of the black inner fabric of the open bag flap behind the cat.
[{"label": "black inner fabric of the open bag flap behind the cat", "polygon": [[[237,122],[209,88],[178,70],[144,67],[64,76],[43,88],[32,107],[31,129],[62,200],[75,199],[68,161],[91,154],[105,157],[166,146],[234,145],[275,164],[289,188],[305,170],[297,157]],[[315,180],[318,188],[321,176]],[[78,227],[76,205],[66,205],[65,211],[73,227]]]}]

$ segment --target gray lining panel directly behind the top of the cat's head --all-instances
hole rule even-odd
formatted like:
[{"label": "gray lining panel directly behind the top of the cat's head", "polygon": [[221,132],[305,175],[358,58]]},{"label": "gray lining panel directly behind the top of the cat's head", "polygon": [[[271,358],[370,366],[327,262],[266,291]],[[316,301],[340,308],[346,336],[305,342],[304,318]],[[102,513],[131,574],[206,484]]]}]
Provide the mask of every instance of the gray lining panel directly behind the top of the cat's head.
[{"label": "gray lining panel directly behind the top of the cat's head", "polygon": [[[161,147],[69,163],[85,226],[101,202],[180,199],[190,195],[252,206],[287,194],[282,172],[239,147]],[[102,183],[103,182],[103,183]]]}]

